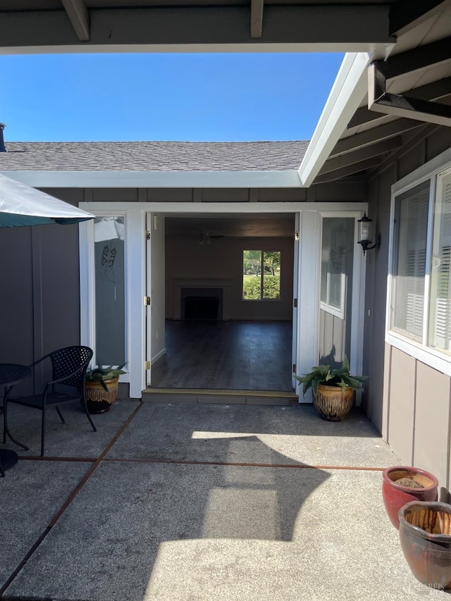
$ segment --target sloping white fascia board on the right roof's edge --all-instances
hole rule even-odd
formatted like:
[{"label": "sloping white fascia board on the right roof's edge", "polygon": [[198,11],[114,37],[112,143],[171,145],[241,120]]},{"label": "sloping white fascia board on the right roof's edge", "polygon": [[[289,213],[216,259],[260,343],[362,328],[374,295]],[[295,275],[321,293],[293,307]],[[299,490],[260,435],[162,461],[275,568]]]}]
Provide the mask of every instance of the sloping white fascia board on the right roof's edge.
[{"label": "sloping white fascia board on the right roof's edge", "polygon": [[366,67],[369,54],[348,53],[335,78],[318,125],[299,167],[303,187],[309,187],[328,158],[354,112],[359,108],[367,89]]}]

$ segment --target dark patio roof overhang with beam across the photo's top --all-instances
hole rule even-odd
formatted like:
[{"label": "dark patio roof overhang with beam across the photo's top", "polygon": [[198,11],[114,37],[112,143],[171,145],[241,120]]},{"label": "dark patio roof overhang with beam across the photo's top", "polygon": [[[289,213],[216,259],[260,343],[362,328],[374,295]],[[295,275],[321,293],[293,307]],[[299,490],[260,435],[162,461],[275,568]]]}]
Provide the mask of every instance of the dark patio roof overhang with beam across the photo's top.
[{"label": "dark patio roof overhang with beam across the photo's top", "polygon": [[11,52],[373,51],[395,42],[398,4],[404,1],[0,0],[0,44]]}]

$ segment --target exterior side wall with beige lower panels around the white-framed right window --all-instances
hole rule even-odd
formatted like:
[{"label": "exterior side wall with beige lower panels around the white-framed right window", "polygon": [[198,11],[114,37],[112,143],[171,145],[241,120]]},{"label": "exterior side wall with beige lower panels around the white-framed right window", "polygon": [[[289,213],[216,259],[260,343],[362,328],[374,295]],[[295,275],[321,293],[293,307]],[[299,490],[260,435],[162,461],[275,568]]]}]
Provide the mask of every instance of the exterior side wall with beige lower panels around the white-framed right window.
[{"label": "exterior side wall with beige lower panels around the white-framed right window", "polygon": [[435,473],[445,497],[451,477],[450,378],[384,339],[391,186],[450,147],[451,128],[430,126],[421,137],[407,140],[369,178],[369,216],[382,240],[379,249],[366,253],[364,373],[369,380],[362,399],[400,461]]}]

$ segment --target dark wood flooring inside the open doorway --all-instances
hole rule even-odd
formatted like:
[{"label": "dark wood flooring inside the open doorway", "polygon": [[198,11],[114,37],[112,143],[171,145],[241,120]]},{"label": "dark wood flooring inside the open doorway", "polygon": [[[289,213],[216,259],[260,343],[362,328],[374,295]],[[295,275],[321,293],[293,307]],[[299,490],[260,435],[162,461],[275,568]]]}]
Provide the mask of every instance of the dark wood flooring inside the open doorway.
[{"label": "dark wood flooring inside the open doorway", "polygon": [[291,322],[166,321],[152,388],[291,391]]}]

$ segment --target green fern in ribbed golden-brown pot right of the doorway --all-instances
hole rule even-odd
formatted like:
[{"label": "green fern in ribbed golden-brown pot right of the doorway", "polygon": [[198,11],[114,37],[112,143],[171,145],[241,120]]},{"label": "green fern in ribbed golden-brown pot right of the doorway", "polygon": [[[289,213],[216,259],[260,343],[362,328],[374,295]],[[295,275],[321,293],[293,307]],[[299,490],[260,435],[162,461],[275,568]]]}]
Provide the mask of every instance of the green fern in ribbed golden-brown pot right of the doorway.
[{"label": "green fern in ribbed golden-brown pot right of the doorway", "polygon": [[302,383],[302,395],[311,388],[313,404],[323,419],[342,421],[350,412],[356,390],[363,390],[367,376],[351,376],[347,357],[342,366],[330,369],[330,365],[316,365],[304,376],[295,376]]}]

